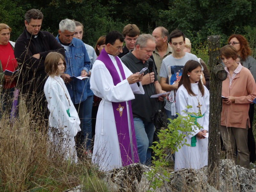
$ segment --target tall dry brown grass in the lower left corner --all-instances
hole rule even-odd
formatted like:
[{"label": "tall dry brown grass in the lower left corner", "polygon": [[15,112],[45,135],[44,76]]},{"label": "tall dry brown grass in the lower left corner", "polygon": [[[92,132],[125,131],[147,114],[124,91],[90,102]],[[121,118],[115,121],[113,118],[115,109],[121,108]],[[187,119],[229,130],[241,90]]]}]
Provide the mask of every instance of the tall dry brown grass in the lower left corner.
[{"label": "tall dry brown grass in the lower left corner", "polygon": [[13,124],[8,115],[0,120],[0,191],[64,191],[78,185],[85,191],[107,191],[90,160],[63,160],[39,131],[45,125],[31,120],[22,100],[19,109]]}]

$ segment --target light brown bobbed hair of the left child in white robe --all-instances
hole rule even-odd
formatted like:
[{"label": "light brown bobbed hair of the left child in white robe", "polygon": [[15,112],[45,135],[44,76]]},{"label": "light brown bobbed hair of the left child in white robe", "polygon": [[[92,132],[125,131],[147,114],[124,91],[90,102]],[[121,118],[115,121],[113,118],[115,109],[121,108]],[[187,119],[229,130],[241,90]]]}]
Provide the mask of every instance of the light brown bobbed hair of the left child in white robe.
[{"label": "light brown bobbed hair of the left child in white robe", "polygon": [[63,55],[61,55],[58,52],[49,52],[44,60],[44,71],[49,76],[53,76],[56,74],[56,71],[58,70],[58,62],[62,59],[64,61],[64,71],[66,70],[67,64],[66,60]]}]

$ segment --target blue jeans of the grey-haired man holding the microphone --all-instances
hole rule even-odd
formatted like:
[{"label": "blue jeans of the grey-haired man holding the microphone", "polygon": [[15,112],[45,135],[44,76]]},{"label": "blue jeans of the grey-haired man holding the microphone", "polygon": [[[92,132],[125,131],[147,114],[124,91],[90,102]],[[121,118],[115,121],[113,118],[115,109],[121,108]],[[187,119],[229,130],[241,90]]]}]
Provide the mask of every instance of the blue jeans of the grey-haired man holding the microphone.
[{"label": "blue jeans of the grey-haired man holding the microphone", "polygon": [[151,147],[155,132],[153,122],[145,122],[140,118],[133,118],[136,134],[138,154],[141,164],[151,163]]}]

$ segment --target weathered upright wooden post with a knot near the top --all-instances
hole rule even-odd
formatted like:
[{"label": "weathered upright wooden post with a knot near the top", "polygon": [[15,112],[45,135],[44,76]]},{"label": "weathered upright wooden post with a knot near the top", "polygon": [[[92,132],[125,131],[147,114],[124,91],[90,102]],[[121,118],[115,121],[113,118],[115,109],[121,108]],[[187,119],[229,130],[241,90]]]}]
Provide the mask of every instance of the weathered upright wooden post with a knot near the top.
[{"label": "weathered upright wooden post with a knot near the top", "polygon": [[222,81],[227,78],[220,59],[220,36],[208,36],[210,67],[210,115],[208,145],[208,182],[219,189],[220,117]]}]

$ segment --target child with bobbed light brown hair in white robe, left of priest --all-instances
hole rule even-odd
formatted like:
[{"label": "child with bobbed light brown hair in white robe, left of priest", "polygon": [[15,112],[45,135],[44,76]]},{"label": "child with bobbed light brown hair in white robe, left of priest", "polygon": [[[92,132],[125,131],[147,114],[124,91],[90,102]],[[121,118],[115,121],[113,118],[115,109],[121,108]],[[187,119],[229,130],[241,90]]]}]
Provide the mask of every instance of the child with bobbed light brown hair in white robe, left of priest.
[{"label": "child with bobbed light brown hair in white robe, left of priest", "polygon": [[66,69],[63,55],[50,52],[45,58],[45,72],[49,75],[44,85],[44,94],[48,103],[49,139],[52,155],[60,153],[65,160],[77,162],[75,139],[81,131],[80,120],[66,85],[60,77]]}]

